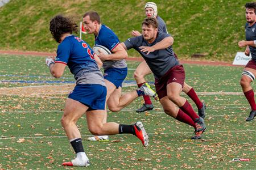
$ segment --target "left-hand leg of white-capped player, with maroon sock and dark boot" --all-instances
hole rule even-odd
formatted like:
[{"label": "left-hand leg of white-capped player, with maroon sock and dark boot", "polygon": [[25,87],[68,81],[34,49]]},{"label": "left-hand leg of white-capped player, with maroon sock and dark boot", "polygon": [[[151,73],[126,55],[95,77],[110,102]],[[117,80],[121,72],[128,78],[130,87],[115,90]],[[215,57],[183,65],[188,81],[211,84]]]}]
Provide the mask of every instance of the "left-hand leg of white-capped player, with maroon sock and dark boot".
[{"label": "left-hand leg of white-capped player, with maroon sock and dark boot", "polygon": [[[146,61],[142,61],[134,71],[134,75],[133,75],[138,84],[138,87],[141,87],[142,84],[146,83],[144,76],[151,73],[152,71],[148,67]],[[144,104],[142,105],[141,108],[137,109],[136,112],[150,111],[154,108],[154,105],[150,100],[150,96],[143,96],[143,98],[144,98]]]}]

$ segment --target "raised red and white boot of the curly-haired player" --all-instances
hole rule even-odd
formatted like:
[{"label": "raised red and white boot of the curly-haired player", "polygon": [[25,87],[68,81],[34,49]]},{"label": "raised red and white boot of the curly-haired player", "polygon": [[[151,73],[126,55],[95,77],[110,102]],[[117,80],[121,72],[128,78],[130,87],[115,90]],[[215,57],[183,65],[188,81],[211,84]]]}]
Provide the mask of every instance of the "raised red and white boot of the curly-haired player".
[{"label": "raised red and white boot of the curly-haired player", "polygon": [[142,122],[136,122],[134,125],[135,135],[139,140],[141,140],[144,147],[148,146],[148,135],[146,133],[146,130],[144,129],[144,126]]}]

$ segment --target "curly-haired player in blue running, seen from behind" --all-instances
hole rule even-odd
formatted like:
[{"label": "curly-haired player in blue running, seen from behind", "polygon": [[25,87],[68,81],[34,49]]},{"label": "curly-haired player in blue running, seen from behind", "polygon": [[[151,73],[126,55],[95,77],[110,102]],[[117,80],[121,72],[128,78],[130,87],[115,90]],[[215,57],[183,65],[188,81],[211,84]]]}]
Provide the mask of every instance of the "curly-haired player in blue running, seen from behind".
[{"label": "curly-haired player in blue running, seen from behind", "polygon": [[61,118],[61,125],[76,152],[76,158],[63,165],[87,167],[89,159],[85,154],[81,134],[76,126],[77,120],[85,112],[88,129],[92,134],[130,133],[136,135],[145,147],[148,145],[148,136],[142,122],[136,122],[134,125],[115,122],[102,124],[106,101],[106,85],[99,69],[102,62],[85,41],[72,35],[72,32],[77,33],[76,27],[77,25],[71,19],[62,15],[57,15],[51,20],[49,30],[60,44],[57,48],[56,60],[46,58],[46,64],[55,78],[63,75],[67,65],[76,79],[76,86],[68,95]]}]

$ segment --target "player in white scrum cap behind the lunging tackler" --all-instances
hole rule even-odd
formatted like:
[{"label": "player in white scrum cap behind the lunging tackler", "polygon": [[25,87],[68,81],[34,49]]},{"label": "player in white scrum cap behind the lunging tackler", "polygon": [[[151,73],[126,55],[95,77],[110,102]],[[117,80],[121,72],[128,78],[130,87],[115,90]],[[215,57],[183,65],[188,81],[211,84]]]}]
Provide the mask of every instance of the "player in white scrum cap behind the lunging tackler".
[{"label": "player in white scrum cap behind the lunging tackler", "polygon": [[[156,4],[154,2],[147,2],[144,9],[147,18],[156,18],[158,20],[158,32],[168,33],[166,23],[164,23],[164,20],[158,15],[158,7],[156,6]],[[140,36],[141,33],[139,31],[133,30],[131,32],[131,35]],[[174,55],[175,57],[177,57],[176,54]],[[134,78],[138,84],[138,87],[141,87],[142,84],[146,83],[144,76],[151,73],[152,71],[148,67],[146,61],[142,61],[137,69],[134,71]],[[200,101],[195,90],[184,82],[183,92],[185,92],[185,94],[187,94],[195,102],[199,116],[204,118],[206,106],[203,102]],[[150,111],[154,108],[149,96],[143,96],[143,98],[144,104],[136,112]]]}]

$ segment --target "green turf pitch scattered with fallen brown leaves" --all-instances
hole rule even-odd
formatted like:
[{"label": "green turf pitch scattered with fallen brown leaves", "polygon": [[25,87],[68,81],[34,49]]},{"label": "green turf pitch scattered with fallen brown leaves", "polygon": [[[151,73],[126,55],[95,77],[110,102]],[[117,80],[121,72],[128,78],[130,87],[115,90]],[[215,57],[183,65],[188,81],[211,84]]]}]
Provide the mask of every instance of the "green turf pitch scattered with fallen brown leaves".
[{"label": "green turf pitch scattered with fallen brown leaves", "polygon": [[[60,125],[68,92],[47,91],[53,85],[56,91],[61,90],[61,84],[74,81],[68,69],[63,78],[55,82],[44,65],[44,57],[1,54],[0,59],[0,169],[82,169],[61,167],[63,161],[75,156]],[[126,82],[134,80],[137,65],[138,62],[128,62]],[[250,108],[239,84],[242,67],[184,67],[186,82],[207,104],[207,131],[203,139],[191,141],[193,128],[167,116],[156,101],[153,101],[153,111],[136,113],[135,109],[142,104],[138,98],[121,112],[109,112],[108,120],[124,124],[142,121],[150,146],[143,148],[141,142],[129,134],[111,136],[109,142],[88,142],[85,139],[90,133],[82,117],[78,125],[90,159],[86,169],[255,169],[255,120],[245,121]],[[147,80],[153,82],[153,76]],[[255,90],[255,83],[252,85]],[[26,86],[34,89],[30,95],[24,94]],[[39,91],[42,86],[45,90]],[[123,92],[135,88],[135,84],[124,87]],[[233,158],[250,161],[234,162]]]}]

